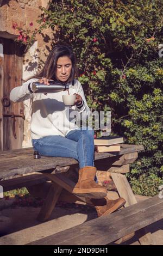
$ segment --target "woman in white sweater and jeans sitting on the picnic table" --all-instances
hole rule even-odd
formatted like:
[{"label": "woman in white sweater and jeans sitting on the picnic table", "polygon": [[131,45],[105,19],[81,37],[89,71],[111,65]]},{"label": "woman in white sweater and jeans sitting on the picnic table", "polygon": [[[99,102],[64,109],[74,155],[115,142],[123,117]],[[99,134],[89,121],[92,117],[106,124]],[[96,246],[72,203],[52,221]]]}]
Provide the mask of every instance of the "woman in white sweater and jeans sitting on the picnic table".
[{"label": "woman in white sweater and jeans sitting on the picnic table", "polygon": [[[30,130],[34,150],[39,151],[43,156],[72,157],[79,162],[79,179],[73,193],[82,197],[104,198],[107,193],[106,188],[95,182],[94,131],[88,127],[80,129],[71,115],[74,111],[82,115],[82,118],[91,114],[83,88],[80,82],[74,79],[75,75],[76,62],[71,48],[55,46],[49,53],[41,72],[30,77],[22,86],[12,89],[10,100],[20,102],[32,99],[33,101]],[[33,93],[31,84],[38,80],[46,83],[47,86],[49,80],[68,84],[70,94],[76,94],[74,106],[65,107],[62,95],[67,94],[66,91]],[[122,205],[122,200],[119,205]]]}]

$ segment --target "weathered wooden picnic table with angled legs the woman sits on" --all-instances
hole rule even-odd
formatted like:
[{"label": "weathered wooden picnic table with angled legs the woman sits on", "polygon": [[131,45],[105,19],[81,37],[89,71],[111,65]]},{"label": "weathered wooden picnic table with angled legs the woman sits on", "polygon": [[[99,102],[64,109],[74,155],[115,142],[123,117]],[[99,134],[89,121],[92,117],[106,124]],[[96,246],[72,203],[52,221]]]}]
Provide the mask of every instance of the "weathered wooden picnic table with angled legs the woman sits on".
[{"label": "weathered wooden picnic table with angled legs the woman sits on", "polygon": [[[118,153],[95,152],[95,166],[98,172],[107,171],[110,173],[118,197],[126,199],[125,208],[137,203],[125,174],[129,172],[129,164],[137,159],[138,152],[141,150],[143,150],[142,145],[122,144],[121,151]],[[74,169],[79,169],[78,161],[69,157],[41,156],[41,159],[34,159],[33,153],[33,148],[15,149],[0,153],[0,185],[3,186],[3,191],[27,187],[29,193],[34,196],[44,197],[45,202],[38,216],[40,221],[49,219],[58,200],[91,205],[89,199],[72,194],[75,183],[70,177]],[[17,177],[17,175],[23,176]],[[4,178],[10,179],[4,180]],[[124,209],[120,211],[124,211]],[[126,241],[134,235],[134,231],[136,229],[116,242]],[[151,233],[147,233],[146,229],[141,229],[139,236],[142,245],[151,244]]]}]

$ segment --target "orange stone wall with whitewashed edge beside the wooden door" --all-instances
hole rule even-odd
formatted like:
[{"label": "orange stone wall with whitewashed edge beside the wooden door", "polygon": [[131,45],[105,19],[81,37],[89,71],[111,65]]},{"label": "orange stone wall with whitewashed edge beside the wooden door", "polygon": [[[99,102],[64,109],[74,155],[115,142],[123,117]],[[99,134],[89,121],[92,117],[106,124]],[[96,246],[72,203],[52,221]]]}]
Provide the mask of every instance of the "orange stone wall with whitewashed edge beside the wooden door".
[{"label": "orange stone wall with whitewashed edge beside the wooden door", "polygon": [[[52,0],[51,0],[52,1]],[[0,37],[15,39],[17,38],[17,30],[12,28],[14,23],[17,23],[18,27],[24,29],[35,29],[39,25],[36,23],[37,17],[41,14],[39,6],[48,8],[49,0],[0,0]],[[33,22],[33,26],[29,26],[30,22]],[[49,38],[52,38],[52,31],[45,29],[45,34],[48,34]],[[23,80],[26,80],[29,76],[36,74],[38,71],[39,61],[45,62],[48,50],[51,48],[51,40],[45,43],[40,34],[37,35],[35,43],[24,54],[23,59]],[[15,85],[18,86],[18,85]],[[24,141],[22,147],[32,147],[30,140],[30,101],[24,101]]]}]

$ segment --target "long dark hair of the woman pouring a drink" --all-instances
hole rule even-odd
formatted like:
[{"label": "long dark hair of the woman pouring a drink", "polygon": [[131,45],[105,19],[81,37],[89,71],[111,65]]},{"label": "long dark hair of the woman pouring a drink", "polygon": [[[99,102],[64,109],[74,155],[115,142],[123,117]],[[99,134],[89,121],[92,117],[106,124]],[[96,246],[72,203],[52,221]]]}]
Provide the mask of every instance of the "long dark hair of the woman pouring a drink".
[{"label": "long dark hair of the woman pouring a drink", "polygon": [[[56,45],[52,49],[52,51],[49,53],[43,69],[39,72],[39,74],[29,77],[28,80],[31,78],[39,78],[40,79],[42,77],[56,80],[55,72],[57,70],[57,60],[58,60],[58,58],[60,58],[62,56],[67,56],[68,58],[71,59],[72,70],[71,70],[70,77],[68,78],[68,82],[73,81],[74,77],[77,75],[76,58],[74,57],[72,48],[70,46],[65,46],[65,45]],[[28,81],[28,80],[26,80],[26,81]]]}]

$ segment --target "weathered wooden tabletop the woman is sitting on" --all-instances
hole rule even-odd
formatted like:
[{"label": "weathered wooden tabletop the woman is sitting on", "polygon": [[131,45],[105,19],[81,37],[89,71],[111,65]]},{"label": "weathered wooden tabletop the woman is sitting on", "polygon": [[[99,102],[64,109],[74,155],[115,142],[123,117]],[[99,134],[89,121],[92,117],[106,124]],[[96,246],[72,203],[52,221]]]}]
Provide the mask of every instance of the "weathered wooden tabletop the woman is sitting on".
[{"label": "weathered wooden tabletop the woman is sitting on", "polygon": [[[124,149],[124,150],[123,150]],[[134,150],[142,150],[141,145],[123,145],[120,154],[124,152],[133,152]],[[126,153],[125,153],[126,154]],[[109,159],[114,155],[110,153],[96,153],[95,160]],[[33,172],[40,172],[42,170],[53,169],[56,166],[71,166],[72,164],[78,164],[78,161],[69,157],[41,157],[41,159],[33,158],[33,149],[15,149],[3,151],[0,153],[0,179],[14,176],[18,174],[26,174]],[[59,173],[59,171],[58,171]]]}]

